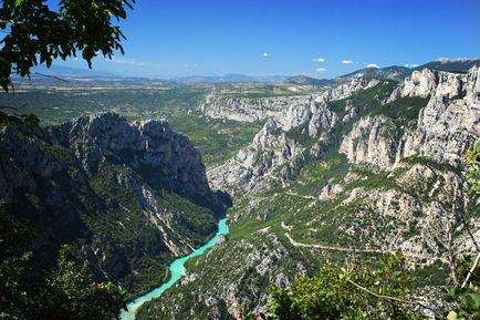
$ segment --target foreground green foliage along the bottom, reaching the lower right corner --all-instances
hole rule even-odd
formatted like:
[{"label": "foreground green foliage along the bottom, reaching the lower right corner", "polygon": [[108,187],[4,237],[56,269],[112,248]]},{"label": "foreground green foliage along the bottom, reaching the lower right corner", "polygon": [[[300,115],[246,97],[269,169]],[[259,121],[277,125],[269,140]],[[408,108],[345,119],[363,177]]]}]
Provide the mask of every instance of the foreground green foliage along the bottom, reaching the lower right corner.
[{"label": "foreground green foliage along the bottom, reaching the lower right corner", "polygon": [[[472,257],[461,259],[457,270],[461,279],[468,277],[473,264]],[[437,272],[434,266],[428,270]],[[401,256],[384,258],[379,268],[349,262],[340,271],[327,261],[314,277],[301,276],[285,289],[271,289],[268,316],[244,308],[242,319],[426,319],[422,311],[428,310],[436,319],[441,316],[448,320],[476,320],[480,319],[479,272],[479,269],[474,270],[468,289],[447,289],[446,301],[452,303],[455,310],[447,306],[438,311],[409,296],[415,277],[401,261]]]}]

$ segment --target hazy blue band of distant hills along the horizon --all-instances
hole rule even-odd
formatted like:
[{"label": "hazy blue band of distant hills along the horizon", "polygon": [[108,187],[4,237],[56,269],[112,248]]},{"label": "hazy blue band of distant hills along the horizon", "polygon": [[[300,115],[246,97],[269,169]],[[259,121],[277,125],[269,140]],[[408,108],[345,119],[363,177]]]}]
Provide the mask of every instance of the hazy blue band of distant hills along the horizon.
[{"label": "hazy blue band of distant hills along the horizon", "polygon": [[425,68],[450,72],[467,72],[471,66],[480,64],[480,59],[460,58],[446,59],[440,58],[431,62],[415,68],[392,65],[386,68],[369,66],[359,69],[335,79],[316,79],[303,74],[299,75],[246,75],[246,74],[223,74],[223,75],[188,75],[179,78],[142,78],[142,76],[123,76],[103,71],[93,71],[88,69],[77,69],[70,66],[52,65],[36,68],[31,79],[21,79],[15,76],[18,83],[63,85],[69,83],[73,86],[161,86],[173,84],[197,84],[197,83],[241,83],[241,82],[285,82],[298,85],[330,85],[336,82],[345,82],[356,78],[376,78],[395,81],[403,81],[415,70]]}]

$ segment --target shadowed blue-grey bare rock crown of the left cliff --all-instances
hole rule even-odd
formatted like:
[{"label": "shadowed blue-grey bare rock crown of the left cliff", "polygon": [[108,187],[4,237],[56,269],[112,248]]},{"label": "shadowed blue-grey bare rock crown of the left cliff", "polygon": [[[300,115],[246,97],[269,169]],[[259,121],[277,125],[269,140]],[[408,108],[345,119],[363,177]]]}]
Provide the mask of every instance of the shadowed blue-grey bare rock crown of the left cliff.
[{"label": "shadowed blue-grey bare rock crown of the left cliff", "polygon": [[128,124],[116,114],[84,116],[61,126],[59,140],[69,143],[87,172],[105,159],[148,171],[148,183],[190,199],[212,203],[205,166],[190,141],[164,120]]}]

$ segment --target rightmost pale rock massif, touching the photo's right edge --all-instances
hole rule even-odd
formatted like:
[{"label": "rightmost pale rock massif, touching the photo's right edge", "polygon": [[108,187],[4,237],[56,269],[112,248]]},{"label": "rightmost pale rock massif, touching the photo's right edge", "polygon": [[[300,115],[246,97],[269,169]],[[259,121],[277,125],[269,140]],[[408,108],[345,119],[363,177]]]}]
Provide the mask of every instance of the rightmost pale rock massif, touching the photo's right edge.
[{"label": "rightmost pale rock massif, touching the photo's right edge", "polygon": [[417,131],[404,138],[405,153],[458,166],[465,149],[480,137],[480,66],[467,74],[430,70],[414,74],[399,89],[400,95],[421,95],[429,87],[431,99],[420,111]]}]

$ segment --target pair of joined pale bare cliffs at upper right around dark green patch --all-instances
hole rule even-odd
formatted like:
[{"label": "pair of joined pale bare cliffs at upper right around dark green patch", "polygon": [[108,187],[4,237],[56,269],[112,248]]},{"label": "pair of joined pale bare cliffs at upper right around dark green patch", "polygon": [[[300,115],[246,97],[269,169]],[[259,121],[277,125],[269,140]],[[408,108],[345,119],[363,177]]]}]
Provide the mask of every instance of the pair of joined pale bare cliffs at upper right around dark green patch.
[{"label": "pair of joined pale bare cliffs at upper right around dark green patch", "polygon": [[420,110],[415,130],[392,136],[384,117],[365,117],[344,137],[341,153],[352,163],[366,163],[392,169],[408,156],[461,165],[465,151],[480,137],[480,66],[468,73],[425,69],[415,71],[388,101],[406,96],[429,97]]}]

